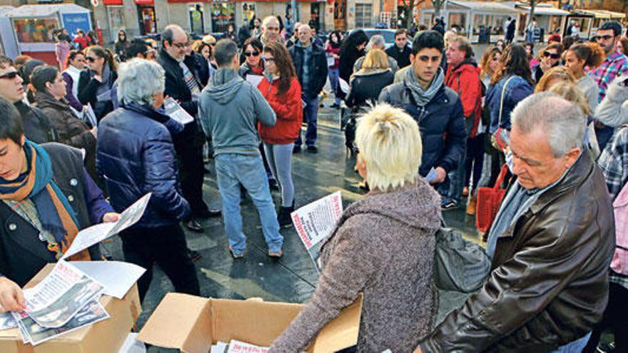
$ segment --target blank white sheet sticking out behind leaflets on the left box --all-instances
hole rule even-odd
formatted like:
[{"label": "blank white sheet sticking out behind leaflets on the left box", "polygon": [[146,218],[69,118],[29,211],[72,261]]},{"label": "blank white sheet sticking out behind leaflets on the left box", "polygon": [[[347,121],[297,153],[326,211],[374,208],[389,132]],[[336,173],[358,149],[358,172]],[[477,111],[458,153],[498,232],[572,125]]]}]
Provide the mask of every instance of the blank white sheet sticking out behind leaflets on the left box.
[{"label": "blank white sheet sticking out behind leaflets on the left box", "polygon": [[104,295],[120,300],[146,272],[143,267],[121,261],[72,261],[71,264],[103,285]]}]

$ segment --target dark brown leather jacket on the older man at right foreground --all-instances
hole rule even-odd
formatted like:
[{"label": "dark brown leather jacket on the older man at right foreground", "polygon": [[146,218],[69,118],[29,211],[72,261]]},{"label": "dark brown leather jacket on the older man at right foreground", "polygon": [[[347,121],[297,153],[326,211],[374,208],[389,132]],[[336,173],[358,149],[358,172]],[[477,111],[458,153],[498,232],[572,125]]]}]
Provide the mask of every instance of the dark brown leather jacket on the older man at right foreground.
[{"label": "dark brown leather jacket on the older man at right foreground", "polygon": [[547,352],[591,331],[608,301],[613,208],[585,150],[564,180],[497,240],[482,289],[420,347],[428,352]]}]

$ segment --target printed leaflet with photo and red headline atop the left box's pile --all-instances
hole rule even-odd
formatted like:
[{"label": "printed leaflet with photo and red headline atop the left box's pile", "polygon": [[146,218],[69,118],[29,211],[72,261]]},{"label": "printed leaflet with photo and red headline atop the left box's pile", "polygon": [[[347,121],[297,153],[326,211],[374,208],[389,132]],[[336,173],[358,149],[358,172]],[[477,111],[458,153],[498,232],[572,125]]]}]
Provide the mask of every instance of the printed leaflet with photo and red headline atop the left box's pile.
[{"label": "printed leaflet with photo and red headline atop the left box's pile", "polygon": [[87,305],[98,300],[104,287],[69,262],[57,262],[44,280],[24,290],[24,312],[41,327],[64,326]]}]

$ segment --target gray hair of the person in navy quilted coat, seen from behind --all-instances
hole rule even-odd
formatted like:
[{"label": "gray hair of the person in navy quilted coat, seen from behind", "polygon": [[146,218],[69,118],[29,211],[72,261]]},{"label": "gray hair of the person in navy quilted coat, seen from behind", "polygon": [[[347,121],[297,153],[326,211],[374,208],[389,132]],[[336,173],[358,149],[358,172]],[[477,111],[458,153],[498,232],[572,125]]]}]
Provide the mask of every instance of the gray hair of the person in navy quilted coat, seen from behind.
[{"label": "gray hair of the person in navy quilted coat, seen from behind", "polygon": [[165,71],[154,61],[133,58],[118,68],[118,100],[121,103],[151,104],[155,101],[153,95],[162,93],[165,88]]}]

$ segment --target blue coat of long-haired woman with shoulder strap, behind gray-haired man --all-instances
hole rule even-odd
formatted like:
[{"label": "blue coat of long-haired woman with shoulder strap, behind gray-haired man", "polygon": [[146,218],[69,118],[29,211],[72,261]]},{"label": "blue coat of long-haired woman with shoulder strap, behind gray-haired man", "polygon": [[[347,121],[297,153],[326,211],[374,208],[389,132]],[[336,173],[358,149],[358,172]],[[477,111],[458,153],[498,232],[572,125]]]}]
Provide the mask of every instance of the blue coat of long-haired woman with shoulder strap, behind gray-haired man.
[{"label": "blue coat of long-haired woman with shoulder strap, behind gray-haired man", "polygon": [[506,87],[504,96],[504,108],[502,108],[502,120],[500,123],[500,104],[502,100],[502,90],[504,84],[510,76],[502,78],[499,82],[493,86],[489,86],[486,91],[486,104],[490,112],[491,123],[490,133],[495,133],[498,127],[505,128],[510,131],[510,113],[515,109],[517,103],[522,101],[527,96],[534,93],[535,88],[532,87],[530,82],[526,81],[521,76],[513,76],[512,80]]}]

